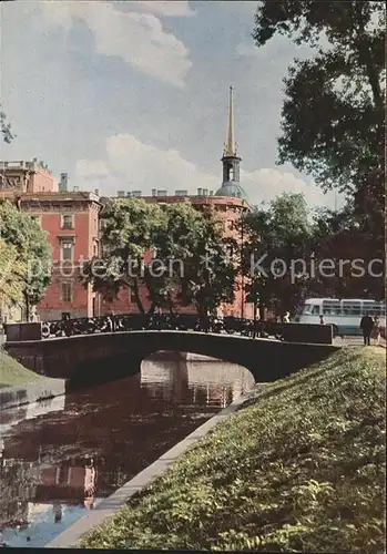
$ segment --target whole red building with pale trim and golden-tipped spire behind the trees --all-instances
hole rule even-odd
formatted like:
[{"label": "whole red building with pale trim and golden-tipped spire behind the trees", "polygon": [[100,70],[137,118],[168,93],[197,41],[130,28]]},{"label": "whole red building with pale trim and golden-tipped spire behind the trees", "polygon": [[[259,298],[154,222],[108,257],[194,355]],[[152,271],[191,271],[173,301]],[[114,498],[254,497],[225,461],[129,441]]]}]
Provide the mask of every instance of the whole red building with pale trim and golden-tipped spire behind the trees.
[{"label": "whole red building with pale trim and golden-tipped spire behind the trees", "polygon": [[[177,203],[190,202],[197,209],[213,206],[223,220],[224,233],[238,236],[234,222],[249,209],[246,194],[240,184],[241,157],[236,153],[234,142],[233,91],[230,90],[228,134],[222,157],[223,179],[221,187],[214,193],[197,188],[197,194],[189,195],[186,191],[153,189],[146,202]],[[118,193],[118,197],[139,197],[141,192]],[[53,249],[52,283],[43,299],[37,306],[41,320],[70,317],[92,317],[109,314],[138,311],[132,291],[123,289],[113,302],[103,301],[89,286],[84,288],[79,281],[79,268],[82,261],[99,254],[101,203],[98,191],[79,192],[77,187],[69,191],[67,174],[61,174],[60,183],[52,176],[43,162],[0,162],[0,201],[18,201],[20,209],[35,218],[41,228],[48,233]],[[149,306],[146,290],[141,290],[143,305]],[[253,317],[253,306],[245,302],[244,283],[236,284],[235,301],[222,307],[224,315]],[[181,311],[193,312],[194,308],[182,308]],[[20,320],[21,310],[10,312],[0,306],[0,322]]]}]

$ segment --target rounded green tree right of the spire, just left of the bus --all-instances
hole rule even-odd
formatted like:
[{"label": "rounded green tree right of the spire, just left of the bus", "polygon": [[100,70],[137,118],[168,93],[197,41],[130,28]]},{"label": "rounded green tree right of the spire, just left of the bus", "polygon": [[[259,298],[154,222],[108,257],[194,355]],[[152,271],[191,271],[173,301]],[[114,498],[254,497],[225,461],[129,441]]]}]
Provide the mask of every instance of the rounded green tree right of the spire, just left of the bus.
[{"label": "rounded green tree right of the spire, just left of the bus", "polygon": [[312,224],[302,194],[283,194],[255,208],[244,229],[242,273],[247,301],[261,317],[265,309],[294,312],[307,290]]}]

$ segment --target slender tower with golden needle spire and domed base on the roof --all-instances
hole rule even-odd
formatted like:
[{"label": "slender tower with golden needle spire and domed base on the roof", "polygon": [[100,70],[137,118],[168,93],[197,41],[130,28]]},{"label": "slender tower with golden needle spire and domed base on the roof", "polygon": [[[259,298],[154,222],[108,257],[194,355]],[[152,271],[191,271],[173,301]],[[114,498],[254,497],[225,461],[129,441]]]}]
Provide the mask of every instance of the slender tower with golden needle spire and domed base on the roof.
[{"label": "slender tower with golden needle spire and domed base on the roof", "polygon": [[234,140],[234,99],[233,88],[230,86],[227,142],[222,157],[223,182],[221,188],[215,193],[216,196],[234,196],[247,199],[246,193],[240,184],[241,161],[242,158],[237,155]]}]

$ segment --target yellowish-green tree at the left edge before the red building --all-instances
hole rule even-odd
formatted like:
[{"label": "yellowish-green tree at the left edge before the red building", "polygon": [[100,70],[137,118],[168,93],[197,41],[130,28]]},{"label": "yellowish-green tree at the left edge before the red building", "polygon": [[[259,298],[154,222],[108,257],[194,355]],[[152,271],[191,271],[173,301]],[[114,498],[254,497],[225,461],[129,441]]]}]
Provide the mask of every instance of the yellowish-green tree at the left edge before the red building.
[{"label": "yellowish-green tree at the left edge before the red building", "polygon": [[31,307],[41,300],[51,283],[51,245],[37,222],[9,202],[0,204],[0,236],[6,244],[13,245],[26,263],[22,296],[29,319]]}]

